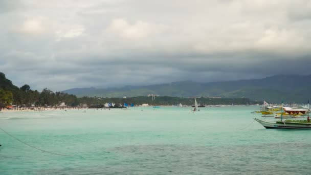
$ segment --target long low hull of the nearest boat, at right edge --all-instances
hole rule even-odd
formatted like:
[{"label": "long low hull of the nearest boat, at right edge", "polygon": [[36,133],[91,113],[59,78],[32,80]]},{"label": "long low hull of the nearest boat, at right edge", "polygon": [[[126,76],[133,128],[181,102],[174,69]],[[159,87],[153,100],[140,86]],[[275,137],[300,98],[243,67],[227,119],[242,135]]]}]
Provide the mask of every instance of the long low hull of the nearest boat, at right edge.
[{"label": "long low hull of the nearest boat, at right edge", "polygon": [[255,118],[258,123],[267,129],[311,129],[311,123],[299,123],[299,122],[266,122]]}]

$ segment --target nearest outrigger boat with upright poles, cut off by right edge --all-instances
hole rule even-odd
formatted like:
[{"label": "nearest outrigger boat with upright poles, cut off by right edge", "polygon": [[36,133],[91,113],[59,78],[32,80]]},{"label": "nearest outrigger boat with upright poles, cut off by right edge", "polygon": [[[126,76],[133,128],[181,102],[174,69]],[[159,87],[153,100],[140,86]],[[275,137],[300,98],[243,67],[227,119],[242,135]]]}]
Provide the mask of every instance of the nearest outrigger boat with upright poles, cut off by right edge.
[{"label": "nearest outrigger boat with upright poles, cut off by right edge", "polygon": [[281,111],[281,121],[266,122],[257,118],[254,118],[258,123],[267,129],[311,129],[311,122],[308,113],[307,120],[282,120],[283,119],[283,105]]}]

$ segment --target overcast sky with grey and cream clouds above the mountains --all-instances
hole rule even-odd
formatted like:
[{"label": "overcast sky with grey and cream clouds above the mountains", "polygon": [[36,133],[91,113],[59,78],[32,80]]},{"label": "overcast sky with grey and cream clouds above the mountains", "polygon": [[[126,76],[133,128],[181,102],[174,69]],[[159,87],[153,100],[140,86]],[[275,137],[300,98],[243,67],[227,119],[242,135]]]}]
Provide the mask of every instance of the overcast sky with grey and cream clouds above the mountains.
[{"label": "overcast sky with grey and cream clouds above the mountains", "polygon": [[310,74],[307,0],[0,0],[0,72],[41,91]]}]

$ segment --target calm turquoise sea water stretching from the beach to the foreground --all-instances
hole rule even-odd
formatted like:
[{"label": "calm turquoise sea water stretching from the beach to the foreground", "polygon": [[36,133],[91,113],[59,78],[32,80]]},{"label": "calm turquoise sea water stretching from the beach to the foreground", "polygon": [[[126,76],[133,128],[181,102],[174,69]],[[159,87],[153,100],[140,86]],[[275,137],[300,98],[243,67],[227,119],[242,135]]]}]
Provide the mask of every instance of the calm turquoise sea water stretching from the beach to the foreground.
[{"label": "calm turquoise sea water stretching from the beach to the foreground", "polygon": [[310,174],[311,130],[264,129],[258,108],[0,113],[18,139],[70,155],[0,130],[0,174]]}]

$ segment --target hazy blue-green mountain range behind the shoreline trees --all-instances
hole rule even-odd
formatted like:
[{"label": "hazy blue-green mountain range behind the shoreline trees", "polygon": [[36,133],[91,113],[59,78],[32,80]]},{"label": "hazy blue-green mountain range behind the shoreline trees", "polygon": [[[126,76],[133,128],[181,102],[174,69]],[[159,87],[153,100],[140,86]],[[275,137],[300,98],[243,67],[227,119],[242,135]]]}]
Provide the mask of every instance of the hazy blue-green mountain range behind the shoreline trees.
[{"label": "hazy blue-green mountain range behind the shoreline trees", "polygon": [[311,99],[311,75],[275,75],[261,79],[193,82],[179,81],[122,88],[74,88],[63,91],[78,97],[135,97],[154,94],[175,97],[249,98],[251,100],[306,103]]}]

